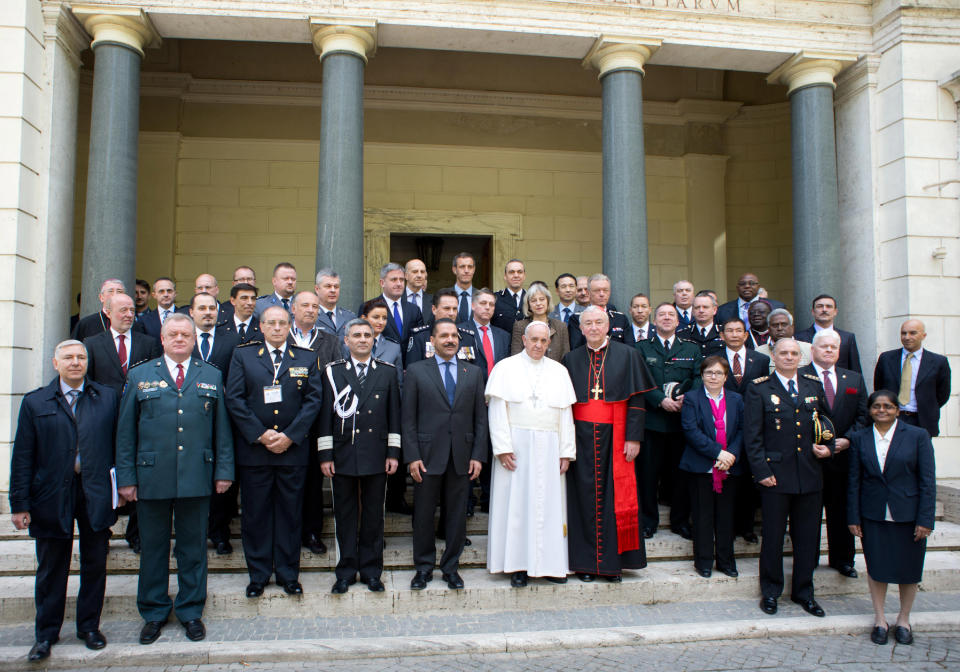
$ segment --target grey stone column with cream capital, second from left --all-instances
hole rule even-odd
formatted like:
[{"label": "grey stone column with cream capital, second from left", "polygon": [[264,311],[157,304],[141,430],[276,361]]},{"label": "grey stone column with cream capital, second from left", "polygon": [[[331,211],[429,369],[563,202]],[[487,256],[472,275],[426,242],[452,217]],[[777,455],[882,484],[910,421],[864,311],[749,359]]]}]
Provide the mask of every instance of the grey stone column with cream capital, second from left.
[{"label": "grey stone column with cream capital, second from left", "polygon": [[323,66],[316,269],[340,273],[340,302],[363,301],[363,72],[376,24],[311,19]]}]

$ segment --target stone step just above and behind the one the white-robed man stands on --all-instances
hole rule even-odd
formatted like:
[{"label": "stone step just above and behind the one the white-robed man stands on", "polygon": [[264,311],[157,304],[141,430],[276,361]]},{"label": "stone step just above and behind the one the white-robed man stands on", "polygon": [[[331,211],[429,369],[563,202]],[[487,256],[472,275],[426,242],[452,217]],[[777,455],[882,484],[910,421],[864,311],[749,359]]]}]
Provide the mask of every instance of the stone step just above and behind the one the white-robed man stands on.
[{"label": "stone step just above and behind the one the white-robed man stands on", "polygon": [[[823,553],[827,551],[827,532],[826,527],[821,528],[820,550]],[[472,545],[463,550],[460,557],[462,567],[485,567],[487,562],[487,536],[486,534],[472,534],[470,540]],[[336,567],[337,556],[335,549],[335,539],[325,538],[328,551],[323,555],[315,555],[307,549],[301,549],[300,568],[303,572],[323,572],[330,571]],[[691,562],[693,558],[693,542],[670,532],[669,530],[660,530],[652,539],[645,541],[648,562],[663,562],[670,560],[685,560]],[[221,572],[246,572],[246,561],[244,560],[243,546],[239,540],[233,544],[233,553],[230,555],[217,555],[212,547],[207,549],[207,562],[211,573]],[[442,555],[444,543],[437,541],[437,557]],[[857,541],[857,550],[860,544]],[[960,525],[956,523],[937,523],[933,534],[927,541],[928,552],[932,551],[960,551]],[[71,571],[77,572],[80,568],[79,544],[74,544],[73,558],[71,560]],[[760,553],[760,544],[748,544],[743,539],[737,538],[734,544],[734,552],[738,558],[757,557]],[[784,540],[784,552],[792,552],[792,544],[789,535]],[[383,553],[384,567],[386,569],[403,570],[413,567],[413,545],[409,536],[392,536],[384,539]],[[0,541],[0,575],[30,575],[36,571],[37,560],[35,554],[34,542],[31,539]],[[110,553],[107,560],[107,568],[111,574],[130,574],[137,573],[140,569],[140,558],[131,551],[125,541],[114,539],[110,542]],[[170,568],[176,569],[176,560],[172,552],[170,557]]]}]

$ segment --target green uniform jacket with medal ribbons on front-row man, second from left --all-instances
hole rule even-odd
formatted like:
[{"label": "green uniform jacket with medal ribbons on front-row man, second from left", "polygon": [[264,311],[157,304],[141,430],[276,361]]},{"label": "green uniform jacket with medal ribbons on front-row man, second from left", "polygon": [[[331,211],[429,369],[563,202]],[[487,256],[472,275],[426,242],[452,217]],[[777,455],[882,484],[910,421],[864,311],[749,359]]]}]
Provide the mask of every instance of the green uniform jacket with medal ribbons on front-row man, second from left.
[{"label": "green uniform jacket with medal ribbons on front-row man, second from left", "polygon": [[233,437],[220,371],[191,358],[183,389],[163,357],[130,369],[117,421],[117,486],[140,499],[208,497],[233,479]]}]

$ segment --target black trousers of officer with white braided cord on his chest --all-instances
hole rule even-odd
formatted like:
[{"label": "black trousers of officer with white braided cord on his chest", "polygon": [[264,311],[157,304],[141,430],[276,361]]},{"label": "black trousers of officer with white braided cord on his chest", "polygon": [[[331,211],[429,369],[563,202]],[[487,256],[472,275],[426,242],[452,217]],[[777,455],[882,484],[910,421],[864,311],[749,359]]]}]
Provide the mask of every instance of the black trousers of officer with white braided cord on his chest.
[{"label": "black trousers of officer with white braided cord on his chest", "polygon": [[383,574],[383,502],[387,474],[333,477],[337,579],[379,579]]}]

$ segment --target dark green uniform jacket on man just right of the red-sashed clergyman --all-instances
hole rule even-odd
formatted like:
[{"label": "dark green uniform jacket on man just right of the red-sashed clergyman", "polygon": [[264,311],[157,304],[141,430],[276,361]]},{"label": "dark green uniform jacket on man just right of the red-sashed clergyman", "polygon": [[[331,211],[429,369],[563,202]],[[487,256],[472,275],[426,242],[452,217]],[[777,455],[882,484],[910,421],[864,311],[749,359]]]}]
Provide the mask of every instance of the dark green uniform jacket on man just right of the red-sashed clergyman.
[{"label": "dark green uniform jacket on man just right of the red-sashed clergyman", "polygon": [[681,383],[684,390],[700,385],[700,346],[689,341],[681,341],[673,336],[670,352],[663,349],[659,337],[648,341],[640,341],[635,346],[643,357],[650,378],[655,387],[644,393],[643,399],[647,405],[646,428],[653,432],[679,432],[680,413],[671,413],[660,408],[663,401],[664,383]]}]

